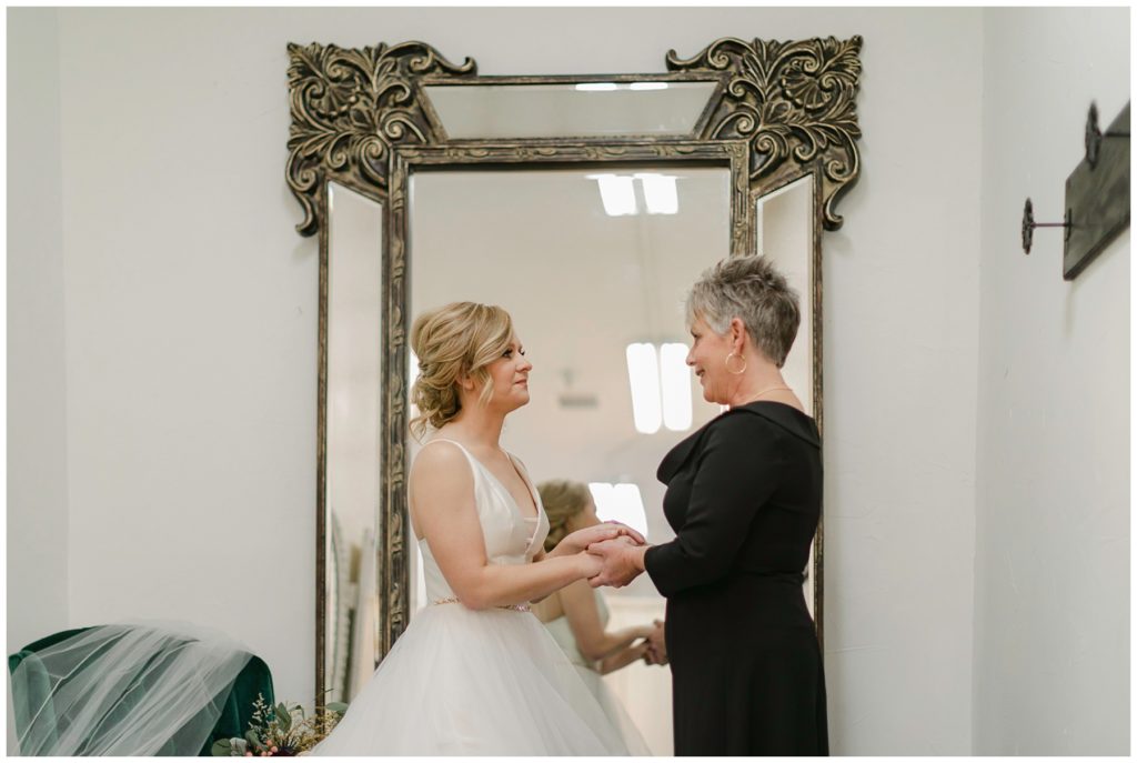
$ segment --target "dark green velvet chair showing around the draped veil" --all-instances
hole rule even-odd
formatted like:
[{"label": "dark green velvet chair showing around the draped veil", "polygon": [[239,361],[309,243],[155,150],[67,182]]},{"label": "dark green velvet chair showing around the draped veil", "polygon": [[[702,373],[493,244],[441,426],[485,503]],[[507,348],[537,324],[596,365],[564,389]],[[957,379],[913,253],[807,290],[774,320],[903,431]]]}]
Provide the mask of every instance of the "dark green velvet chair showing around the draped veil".
[{"label": "dark green velvet chair showing around the draped veil", "polygon": [[[13,714],[16,720],[17,735],[22,733],[24,729],[27,728],[31,714],[36,712],[36,708],[44,704],[44,700],[51,692],[51,685],[48,675],[44,671],[35,669],[35,663],[38,662],[35,654],[73,636],[77,636],[85,630],[88,629],[76,628],[52,633],[51,636],[28,644],[16,654],[9,655],[8,672],[14,677],[11,686],[14,702]],[[16,667],[25,662],[27,663],[25,669],[16,675]],[[146,687],[136,686],[132,688],[131,691],[136,691],[141,695],[146,691]],[[227,689],[221,716],[217,719],[209,738],[206,739],[205,744],[201,746],[201,749],[198,753],[199,755],[210,755],[213,745],[218,739],[244,736],[244,732],[249,728],[249,721],[252,719],[252,703],[256,700],[257,695],[263,696],[265,702],[268,704],[275,703],[273,678],[268,670],[268,665],[266,665],[260,657],[254,656],[248,663],[246,663],[244,667],[241,669],[241,672],[238,673],[236,679]],[[116,712],[128,713],[132,706],[133,703],[128,700],[123,702]],[[51,713],[51,705],[48,705],[42,712]],[[55,727],[56,723],[52,722],[49,723],[49,725]],[[156,754],[185,755],[188,749],[192,749],[191,745],[196,746],[196,744],[197,743],[194,740],[185,738],[184,730],[175,730],[172,732],[171,738]]]}]

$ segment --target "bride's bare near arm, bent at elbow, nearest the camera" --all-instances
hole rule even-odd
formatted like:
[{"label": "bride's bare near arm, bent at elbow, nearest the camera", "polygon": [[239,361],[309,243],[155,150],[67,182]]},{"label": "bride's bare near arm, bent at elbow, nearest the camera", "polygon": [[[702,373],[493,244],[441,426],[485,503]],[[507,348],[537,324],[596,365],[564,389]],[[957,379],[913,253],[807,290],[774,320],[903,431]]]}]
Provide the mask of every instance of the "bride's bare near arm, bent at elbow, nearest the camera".
[{"label": "bride's bare near arm, bent at elbow, nearest the camera", "polygon": [[455,596],[471,609],[542,598],[600,571],[599,557],[576,554],[532,564],[490,564],[474,505],[474,480],[456,448],[424,448],[410,470],[415,523]]}]

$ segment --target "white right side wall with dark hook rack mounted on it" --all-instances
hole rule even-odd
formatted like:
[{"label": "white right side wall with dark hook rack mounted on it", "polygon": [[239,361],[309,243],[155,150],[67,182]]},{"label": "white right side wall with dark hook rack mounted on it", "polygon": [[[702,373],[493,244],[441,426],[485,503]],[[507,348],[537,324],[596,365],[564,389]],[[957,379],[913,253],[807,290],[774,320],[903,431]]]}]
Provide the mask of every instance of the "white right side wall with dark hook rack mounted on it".
[{"label": "white right side wall with dark hook rack mounted on it", "polygon": [[1129,753],[1129,232],[1062,280],[1092,100],[1129,99],[1129,10],[985,11],[974,752]]}]

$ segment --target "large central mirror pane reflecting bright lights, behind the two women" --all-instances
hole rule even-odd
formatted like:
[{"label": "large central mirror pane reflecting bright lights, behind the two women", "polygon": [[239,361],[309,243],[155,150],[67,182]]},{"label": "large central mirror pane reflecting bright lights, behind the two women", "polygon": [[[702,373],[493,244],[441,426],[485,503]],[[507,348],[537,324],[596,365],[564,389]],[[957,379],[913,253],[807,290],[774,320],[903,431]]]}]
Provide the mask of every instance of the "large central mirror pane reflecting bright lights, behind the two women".
[{"label": "large central mirror pane reflecting bright lights, behind the two women", "polygon": [[[531,401],[506,421],[504,447],[536,482],[636,486],[641,504],[598,500],[598,514],[642,512],[649,542],[672,539],[655,472],[673,445],[719,414],[683,365],[683,300],[699,273],[730,254],[730,172],[421,172],[410,177],[409,209],[412,320],[455,300],[501,305],[533,363]],[[654,410],[637,416],[629,346],[644,343],[682,345],[674,358],[662,355],[682,384],[661,383],[652,370],[645,391],[654,395],[641,407]],[[407,441],[413,459],[418,443]],[[613,492],[622,490],[634,492]],[[421,581],[412,583],[414,607],[424,604]],[[646,575],[603,595],[609,629],[663,619]],[[653,752],[671,754],[670,671],[637,662],[605,680]]]}]

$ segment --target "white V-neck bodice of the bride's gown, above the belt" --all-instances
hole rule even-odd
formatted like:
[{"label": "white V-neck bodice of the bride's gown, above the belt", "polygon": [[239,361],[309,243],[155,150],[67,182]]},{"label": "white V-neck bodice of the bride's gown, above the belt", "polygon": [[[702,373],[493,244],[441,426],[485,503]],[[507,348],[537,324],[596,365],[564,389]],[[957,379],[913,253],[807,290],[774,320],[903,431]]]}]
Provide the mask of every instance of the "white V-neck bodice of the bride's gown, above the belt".
[{"label": "white V-neck bodice of the bride's gown, above the belt", "polygon": [[[426,446],[434,442],[450,442],[457,446],[466,456],[466,461],[470,462],[470,468],[474,476],[474,506],[478,509],[478,521],[482,526],[485,558],[490,564],[528,564],[532,562],[533,556],[545,544],[545,537],[549,533],[549,521],[545,516],[541,497],[533,488],[524,466],[513,455],[506,454],[533,497],[533,504],[537,506],[536,517],[526,517],[522,514],[521,507],[517,506],[517,501],[509,490],[460,442],[434,438]],[[423,558],[426,600],[431,603],[454,600],[454,590],[442,575],[442,571],[439,570],[438,562],[434,561],[434,555],[425,538],[418,541],[418,550]]]}]

